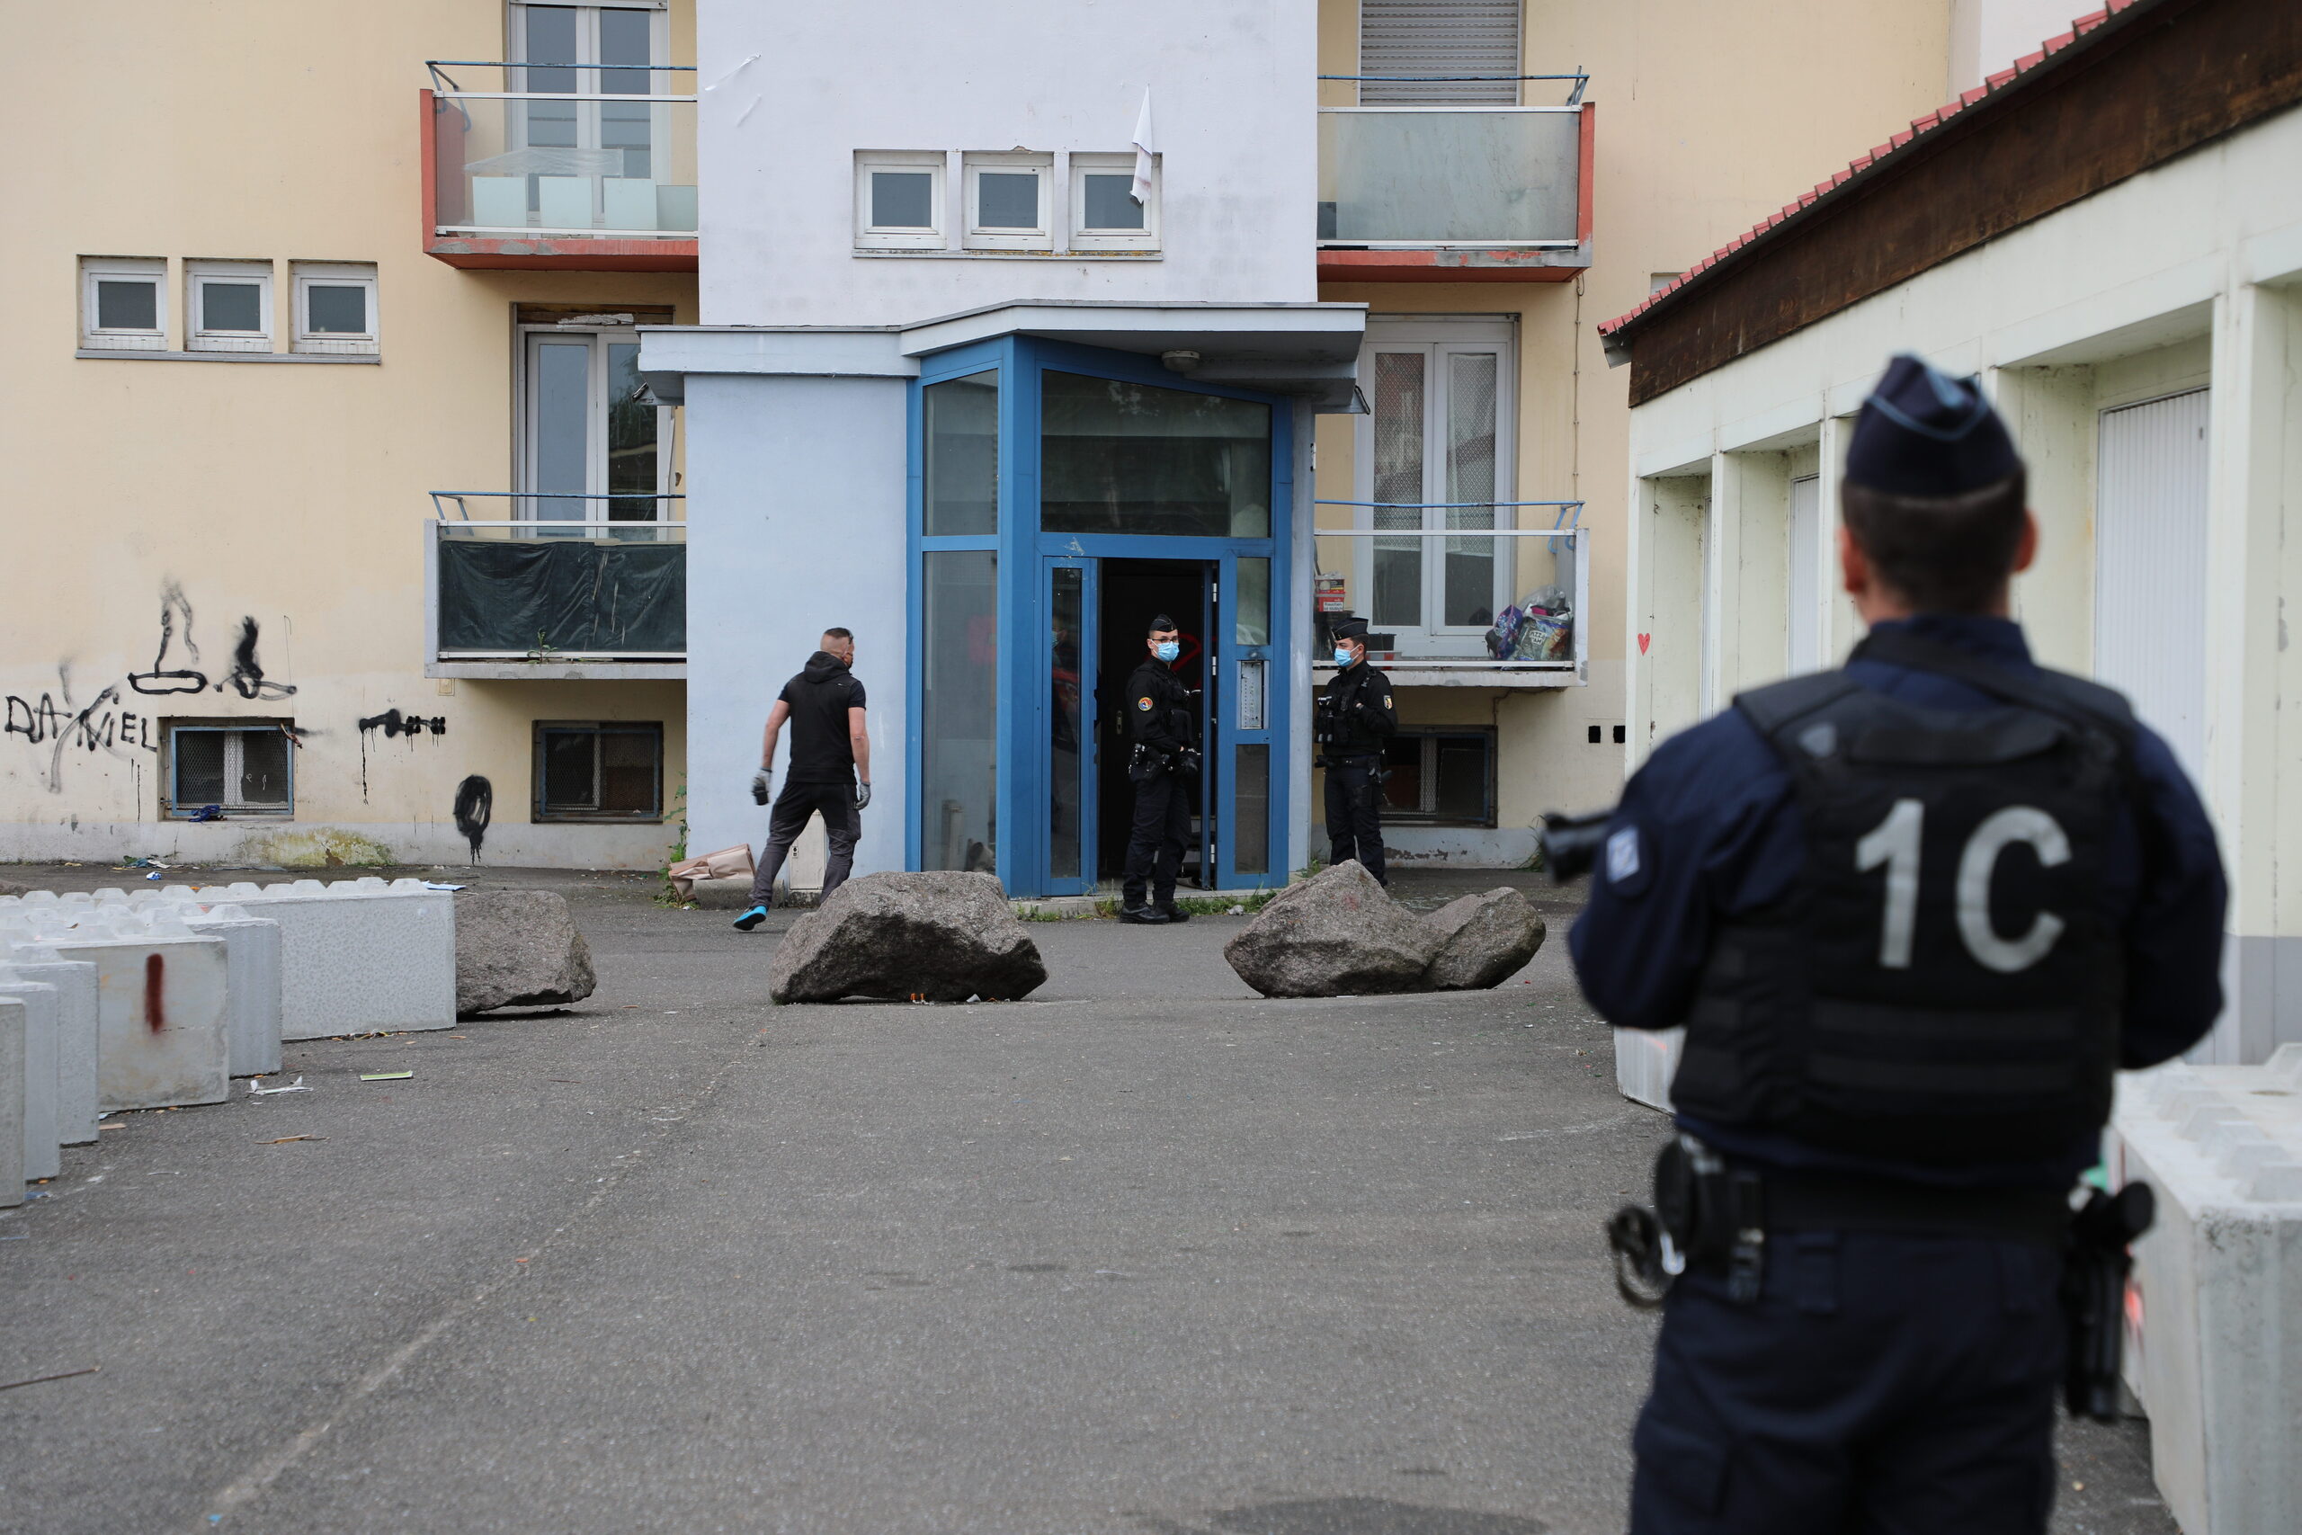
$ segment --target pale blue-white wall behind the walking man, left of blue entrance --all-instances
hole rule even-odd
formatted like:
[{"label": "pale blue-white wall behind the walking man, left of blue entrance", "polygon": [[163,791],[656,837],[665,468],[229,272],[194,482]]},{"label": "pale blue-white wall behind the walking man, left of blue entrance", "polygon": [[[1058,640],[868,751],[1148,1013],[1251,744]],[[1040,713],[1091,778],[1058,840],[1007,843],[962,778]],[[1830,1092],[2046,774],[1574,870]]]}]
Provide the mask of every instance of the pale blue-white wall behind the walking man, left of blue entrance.
[{"label": "pale blue-white wall behind the walking man, left of blue entrance", "polygon": [[[762,108],[764,110],[764,108]],[[826,628],[856,637],[872,803],[856,872],[902,868],[905,380],[688,377],[688,847],[767,840],[760,730]],[[790,762],[776,757],[776,787]],[[808,870],[794,881],[806,886]]]}]

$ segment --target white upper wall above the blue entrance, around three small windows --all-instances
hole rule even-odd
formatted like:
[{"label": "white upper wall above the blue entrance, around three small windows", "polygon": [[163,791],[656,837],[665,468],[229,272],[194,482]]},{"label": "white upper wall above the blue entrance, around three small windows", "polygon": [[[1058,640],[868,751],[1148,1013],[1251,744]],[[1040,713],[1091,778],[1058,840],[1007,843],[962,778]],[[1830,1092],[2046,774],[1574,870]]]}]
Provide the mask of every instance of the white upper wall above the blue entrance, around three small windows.
[{"label": "white upper wall above the blue entrance, around three small windows", "polygon": [[[698,0],[698,67],[704,324],[1319,297],[1312,0]],[[856,150],[1126,152],[1144,90],[1158,260],[856,255]]]}]

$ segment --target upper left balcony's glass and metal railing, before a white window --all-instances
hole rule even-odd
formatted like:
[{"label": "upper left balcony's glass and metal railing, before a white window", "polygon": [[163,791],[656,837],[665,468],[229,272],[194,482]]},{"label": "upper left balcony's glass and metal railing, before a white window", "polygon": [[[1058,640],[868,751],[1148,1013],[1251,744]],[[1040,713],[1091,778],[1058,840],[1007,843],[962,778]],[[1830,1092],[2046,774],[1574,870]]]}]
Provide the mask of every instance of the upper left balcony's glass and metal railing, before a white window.
[{"label": "upper left balcony's glass and metal railing, before a white window", "polygon": [[[467,90],[447,67],[495,69],[504,87]],[[695,239],[695,97],[658,90],[688,67],[428,69],[435,235]]]}]

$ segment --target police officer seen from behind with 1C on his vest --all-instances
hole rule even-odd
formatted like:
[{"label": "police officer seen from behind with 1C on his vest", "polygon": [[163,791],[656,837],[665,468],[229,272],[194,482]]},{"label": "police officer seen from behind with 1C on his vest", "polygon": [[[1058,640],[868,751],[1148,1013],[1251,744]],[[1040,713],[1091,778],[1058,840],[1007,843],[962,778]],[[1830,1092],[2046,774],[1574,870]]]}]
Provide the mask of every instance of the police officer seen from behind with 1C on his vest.
[{"label": "police officer seen from behind with 1C on his vest", "polygon": [[2215,833],[2007,619],[2037,525],[1975,380],[1897,357],[1842,504],[1869,637],[1664,741],[1572,934],[1611,1024],[1687,1029],[1639,1535],[2044,1530],[2074,1183],[2113,1070],[2221,1008]]}]

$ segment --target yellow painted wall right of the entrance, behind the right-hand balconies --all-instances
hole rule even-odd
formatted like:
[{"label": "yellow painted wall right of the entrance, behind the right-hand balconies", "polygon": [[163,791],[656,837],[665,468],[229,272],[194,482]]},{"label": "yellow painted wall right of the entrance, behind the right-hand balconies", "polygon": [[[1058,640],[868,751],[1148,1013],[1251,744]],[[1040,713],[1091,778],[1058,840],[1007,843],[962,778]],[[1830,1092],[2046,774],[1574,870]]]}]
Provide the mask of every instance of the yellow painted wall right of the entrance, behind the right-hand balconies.
[{"label": "yellow painted wall right of the entrance, behind the right-hand balconies", "polygon": [[[1621,787],[1625,709],[1625,509],[1630,371],[1609,368],[1598,324],[1646,299],[1849,159],[1943,101],[1950,0],[1529,0],[1524,71],[1591,74],[1598,106],[1593,265],[1570,283],[1328,283],[1321,299],[1374,313],[1519,315],[1522,499],[1581,499],[1591,550],[1591,681],[1547,693],[1409,688],[1402,718],[1455,723],[1464,697],[1499,727],[1499,826],[1545,808],[1591,808]],[[1319,71],[1354,74],[1356,0],[1321,0]],[[1349,85],[1321,101],[1347,106]],[[1549,85],[1531,85],[1549,92]],[[1554,101],[1556,94],[1531,94]],[[1319,495],[1354,497],[1351,417],[1321,417]],[[1335,555],[1342,555],[1340,541]],[[1321,552],[1321,557],[1326,557]],[[1600,743],[1588,739],[1600,727]]]}]

